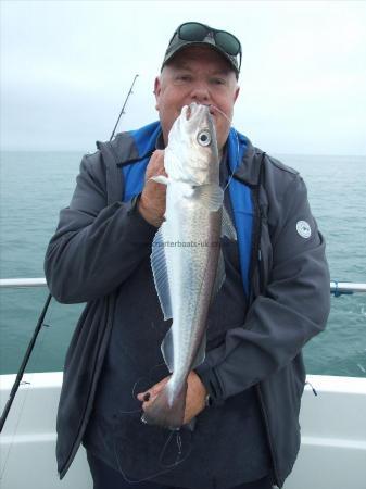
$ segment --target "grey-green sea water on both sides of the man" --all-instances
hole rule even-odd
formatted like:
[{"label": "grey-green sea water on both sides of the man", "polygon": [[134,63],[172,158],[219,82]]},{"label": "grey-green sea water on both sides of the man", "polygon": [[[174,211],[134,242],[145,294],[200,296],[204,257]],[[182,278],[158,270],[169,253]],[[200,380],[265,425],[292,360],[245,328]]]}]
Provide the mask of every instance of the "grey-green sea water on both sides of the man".
[{"label": "grey-green sea water on both sides of the man", "polygon": [[[331,279],[366,283],[366,156],[276,158],[305,179]],[[71,200],[80,159],[78,152],[1,153],[1,278],[43,277],[46,248]],[[47,296],[46,288],[0,289],[0,374],[17,372]],[[51,302],[28,372],[62,369],[83,306]],[[366,293],[332,297],[327,328],[304,354],[310,374],[366,377]]]}]

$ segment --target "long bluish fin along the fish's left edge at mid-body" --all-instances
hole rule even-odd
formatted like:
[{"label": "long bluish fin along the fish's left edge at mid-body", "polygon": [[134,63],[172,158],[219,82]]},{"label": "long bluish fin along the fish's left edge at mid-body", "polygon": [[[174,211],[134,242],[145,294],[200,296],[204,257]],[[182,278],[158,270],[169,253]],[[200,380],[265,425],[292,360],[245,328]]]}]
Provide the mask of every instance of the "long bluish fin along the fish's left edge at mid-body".
[{"label": "long bluish fin along the fish's left edge at mid-body", "polygon": [[[164,224],[162,226],[164,226]],[[156,231],[153,239],[150,261],[155,289],[164,314],[164,321],[167,321],[173,317],[173,314],[162,227]]]}]

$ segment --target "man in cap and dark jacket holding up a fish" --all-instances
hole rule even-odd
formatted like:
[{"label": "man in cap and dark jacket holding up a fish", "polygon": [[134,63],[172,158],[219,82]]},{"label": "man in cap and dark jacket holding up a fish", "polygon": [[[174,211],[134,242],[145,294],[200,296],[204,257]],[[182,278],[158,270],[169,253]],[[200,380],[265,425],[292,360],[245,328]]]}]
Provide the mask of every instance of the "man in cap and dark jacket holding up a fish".
[{"label": "man in cap and dark jacket holding up a fish", "polygon": [[[58,416],[63,477],[80,442],[97,489],[281,487],[300,446],[301,349],[326,325],[325,243],[299,174],[230,128],[241,47],[200,23],[178,27],[155,80],[160,123],[84,158],[46,255],[61,302],[87,302],[70,346]],[[168,372],[150,267],[164,218],[164,148],[184,105],[209,105],[225,206],[238,242],[207,318],[204,362],[188,378],[178,432],[141,423]],[[234,176],[234,177],[232,177]]]}]

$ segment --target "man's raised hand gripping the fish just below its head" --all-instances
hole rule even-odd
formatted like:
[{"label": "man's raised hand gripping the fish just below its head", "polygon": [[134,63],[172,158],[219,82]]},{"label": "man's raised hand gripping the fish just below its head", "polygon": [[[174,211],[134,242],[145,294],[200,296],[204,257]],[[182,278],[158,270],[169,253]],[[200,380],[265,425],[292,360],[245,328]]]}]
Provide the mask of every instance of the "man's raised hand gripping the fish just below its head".
[{"label": "man's raised hand gripping the fish just below its head", "polygon": [[138,204],[142,217],[155,227],[160,227],[164,221],[166,187],[150,180],[156,175],[167,176],[164,168],[164,150],[153,152],[144,176],[144,187]]}]

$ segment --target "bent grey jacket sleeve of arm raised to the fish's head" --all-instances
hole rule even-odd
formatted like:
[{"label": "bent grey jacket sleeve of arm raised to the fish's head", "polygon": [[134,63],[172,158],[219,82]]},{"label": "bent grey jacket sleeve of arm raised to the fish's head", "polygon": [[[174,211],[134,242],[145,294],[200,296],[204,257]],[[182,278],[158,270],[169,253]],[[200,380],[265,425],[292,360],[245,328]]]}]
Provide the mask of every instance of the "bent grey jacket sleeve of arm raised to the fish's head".
[{"label": "bent grey jacket sleeve of arm raised to the fish's head", "polygon": [[132,201],[108,205],[101,153],[84,156],[71,204],[61,211],[46,252],[51,293],[64,303],[110,293],[149,255],[155,231]]}]

